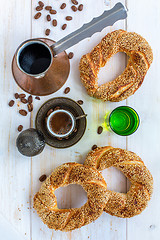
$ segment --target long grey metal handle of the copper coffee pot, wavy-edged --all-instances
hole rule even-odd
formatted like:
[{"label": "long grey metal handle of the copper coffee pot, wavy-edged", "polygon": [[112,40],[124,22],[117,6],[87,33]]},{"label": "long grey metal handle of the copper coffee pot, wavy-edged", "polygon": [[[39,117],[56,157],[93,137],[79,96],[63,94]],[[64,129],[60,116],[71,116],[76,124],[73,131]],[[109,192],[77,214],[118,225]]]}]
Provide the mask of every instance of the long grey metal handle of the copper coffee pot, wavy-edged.
[{"label": "long grey metal handle of the copper coffee pot, wavy-edged", "polygon": [[117,3],[111,10],[105,11],[101,16],[83,25],[80,29],[62,38],[51,47],[55,55],[74,46],[81,40],[101,32],[105,27],[112,26],[116,21],[127,18],[127,10],[122,3]]}]

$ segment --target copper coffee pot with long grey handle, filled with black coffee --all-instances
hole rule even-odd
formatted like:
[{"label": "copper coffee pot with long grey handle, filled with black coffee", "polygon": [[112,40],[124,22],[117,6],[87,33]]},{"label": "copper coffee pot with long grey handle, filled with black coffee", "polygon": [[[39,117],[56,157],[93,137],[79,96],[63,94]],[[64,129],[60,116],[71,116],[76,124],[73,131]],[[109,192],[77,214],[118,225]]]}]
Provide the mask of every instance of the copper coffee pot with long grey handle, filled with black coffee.
[{"label": "copper coffee pot with long grey handle, filled with black coffee", "polygon": [[15,81],[32,95],[44,96],[58,91],[66,82],[70,71],[65,50],[126,17],[125,7],[117,3],[111,10],[105,11],[100,17],[94,18],[58,42],[47,38],[23,42],[12,61]]}]

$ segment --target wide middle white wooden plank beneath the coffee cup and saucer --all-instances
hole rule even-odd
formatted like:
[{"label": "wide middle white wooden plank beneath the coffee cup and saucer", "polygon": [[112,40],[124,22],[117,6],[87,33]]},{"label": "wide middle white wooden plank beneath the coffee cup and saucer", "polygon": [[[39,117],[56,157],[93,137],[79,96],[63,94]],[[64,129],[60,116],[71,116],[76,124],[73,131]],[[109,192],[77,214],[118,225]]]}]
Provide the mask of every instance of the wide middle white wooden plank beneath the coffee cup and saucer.
[{"label": "wide middle white wooden plank beneath the coffee cup and saucer", "polygon": [[[67,2],[67,6],[69,5],[69,1]],[[123,3],[125,1],[122,1]],[[78,29],[84,23],[92,20],[93,17],[99,16],[103,13],[104,9],[111,8],[116,1],[112,1],[110,6],[106,7],[104,5],[104,1],[94,2],[88,0],[84,4],[84,11],[77,12],[76,14],[69,10],[69,7],[62,11],[58,11],[56,18],[58,20],[58,26],[56,30],[51,28],[51,35],[49,36],[51,39],[58,40],[62,38],[64,35]],[[48,4],[52,5],[51,1],[48,1]],[[57,9],[60,6],[60,2],[54,2],[54,7]],[[35,3],[32,3],[32,9],[34,14]],[[68,28],[66,31],[62,31],[60,26],[63,24],[63,19],[67,15],[74,15],[74,20],[68,24]],[[45,16],[38,21],[33,20],[32,24],[32,36],[44,36],[45,28],[50,26],[47,22],[44,22]],[[80,21],[81,20],[81,21]],[[42,97],[41,101],[35,105],[34,114],[33,114],[33,126],[35,114],[40,107],[40,105],[45,102],[47,99],[57,96],[65,96],[63,91],[65,87],[70,86],[71,92],[67,95],[74,100],[82,99],[84,101],[83,108],[86,113],[88,113],[88,125],[86,133],[83,139],[77,143],[75,146],[65,149],[65,150],[56,150],[51,147],[46,147],[44,152],[35,157],[32,160],[32,193],[33,196],[35,192],[39,189],[40,183],[38,182],[38,178],[41,174],[47,173],[50,174],[52,170],[65,162],[79,162],[83,163],[85,160],[85,156],[87,152],[91,149],[93,144],[97,144],[98,146],[103,145],[112,145],[114,147],[126,147],[126,138],[118,137],[109,132],[104,132],[101,136],[97,135],[97,127],[103,123],[103,117],[106,111],[111,111],[118,105],[122,103],[103,103],[99,100],[93,99],[86,94],[86,91],[79,79],[79,71],[78,65],[80,58],[83,54],[91,51],[91,49],[100,42],[101,38],[104,37],[108,32],[125,28],[125,21],[119,21],[113,27],[108,27],[104,29],[101,33],[96,33],[92,38],[85,39],[76,46],[68,49],[67,52],[73,51],[74,58],[71,60],[71,72],[66,82],[65,86],[60,89],[57,93],[52,94],[51,96]],[[106,81],[111,80],[122,70],[125,68],[125,56],[123,54],[117,54],[111,60],[104,70],[100,73],[101,83],[103,79]],[[107,76],[107,77],[106,77]],[[125,101],[123,102],[125,104]],[[110,189],[114,189],[117,191],[126,191],[126,178],[122,176],[121,173],[116,171],[115,169],[105,170],[103,175],[107,179],[107,183]],[[71,207],[75,206],[76,202],[79,202],[79,195],[83,196],[83,200],[85,200],[85,194],[81,191],[81,189],[77,189],[77,187],[67,188],[67,191],[59,192],[58,200],[60,201],[59,205],[69,206],[68,202],[71,200]],[[73,205],[72,205],[73,204]],[[77,206],[77,205],[76,205]],[[72,233],[61,233],[55,232],[47,229],[46,226],[41,222],[36,213],[32,214],[32,239],[126,239],[126,220],[114,218],[109,216],[108,214],[103,213],[103,215],[88,226],[85,226],[79,230],[75,230]]]}]

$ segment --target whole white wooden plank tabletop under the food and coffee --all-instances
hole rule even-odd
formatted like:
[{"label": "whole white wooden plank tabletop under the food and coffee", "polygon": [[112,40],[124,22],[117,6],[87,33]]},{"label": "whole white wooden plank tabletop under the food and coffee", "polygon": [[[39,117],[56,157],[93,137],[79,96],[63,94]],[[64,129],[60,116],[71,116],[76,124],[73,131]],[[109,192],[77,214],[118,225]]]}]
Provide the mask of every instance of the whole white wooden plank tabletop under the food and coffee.
[{"label": "whole white wooden plank tabletop under the food and coffee", "polygon": [[[110,9],[117,1],[111,0],[106,6],[104,0],[87,0],[84,11],[73,13],[70,10],[70,0],[66,0],[68,8],[57,15],[58,23],[64,23],[66,15],[74,15],[74,21],[68,24],[65,31],[60,25],[51,27],[50,38],[60,39],[62,36],[78,29],[93,17],[99,16],[105,9]],[[101,33],[85,39],[67,52],[73,51],[71,72],[68,81],[57,93],[41,97],[34,101],[34,111],[27,117],[18,114],[17,104],[9,108],[8,101],[13,99],[15,92],[23,92],[15,83],[11,72],[12,56],[18,45],[29,38],[44,37],[44,30],[49,23],[44,21],[44,15],[38,21],[33,19],[35,0],[1,0],[0,5],[0,211],[27,240],[158,240],[160,239],[160,2],[158,0],[123,0],[129,12],[125,21],[119,21],[112,27],[107,27]],[[45,3],[58,9],[62,0],[44,0]],[[64,1],[65,2],[65,1]],[[58,10],[59,11],[59,10]],[[60,11],[59,11],[60,12]],[[46,16],[46,14],[45,14]],[[101,38],[115,29],[135,31],[144,36],[153,48],[154,62],[147,73],[142,87],[126,101],[120,103],[102,103],[86,94],[78,72],[81,56],[89,52]],[[99,82],[110,81],[121,74],[126,66],[126,56],[117,54],[101,70]],[[18,136],[17,126],[24,129],[34,127],[35,115],[39,107],[48,99],[64,96],[65,87],[70,86],[68,97],[84,101],[83,108],[88,113],[88,125],[84,137],[75,146],[56,150],[49,146],[39,156],[27,158],[20,155],[15,147]],[[106,111],[119,105],[129,105],[135,108],[141,117],[139,130],[130,137],[120,137],[107,131],[97,135],[96,130],[103,121]],[[106,213],[79,230],[71,233],[55,232],[47,229],[32,208],[33,196],[40,187],[39,177],[50,174],[52,170],[65,162],[83,163],[87,152],[93,144],[98,146],[111,145],[137,153],[150,169],[154,177],[154,194],[148,208],[139,216],[131,219],[120,219]],[[114,168],[103,172],[108,188],[126,192],[126,178]],[[58,203],[61,207],[78,207],[86,200],[86,195],[79,187],[67,187],[59,191]]]}]

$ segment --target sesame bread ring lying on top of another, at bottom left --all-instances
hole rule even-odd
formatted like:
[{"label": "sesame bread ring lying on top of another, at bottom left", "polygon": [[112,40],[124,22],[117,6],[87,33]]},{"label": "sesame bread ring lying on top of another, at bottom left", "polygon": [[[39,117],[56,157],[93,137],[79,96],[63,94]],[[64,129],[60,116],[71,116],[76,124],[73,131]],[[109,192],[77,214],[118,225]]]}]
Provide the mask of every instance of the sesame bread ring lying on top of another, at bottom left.
[{"label": "sesame bread ring lying on top of another, at bottom left", "polygon": [[[87,192],[88,201],[81,208],[58,209],[54,191],[69,184],[79,184]],[[34,208],[51,229],[71,231],[96,220],[108,201],[106,182],[94,168],[66,163],[56,168],[34,196]]]}]

